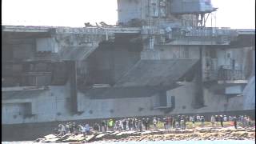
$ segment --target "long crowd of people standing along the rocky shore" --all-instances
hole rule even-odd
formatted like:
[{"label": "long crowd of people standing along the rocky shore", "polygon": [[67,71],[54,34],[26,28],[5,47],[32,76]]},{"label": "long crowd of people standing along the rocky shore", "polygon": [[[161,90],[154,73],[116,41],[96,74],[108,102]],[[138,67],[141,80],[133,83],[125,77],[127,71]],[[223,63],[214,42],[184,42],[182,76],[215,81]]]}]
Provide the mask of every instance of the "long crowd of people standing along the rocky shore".
[{"label": "long crowd of people standing along the rocky shore", "polygon": [[[95,131],[113,131],[113,130],[157,130],[159,127],[162,129],[186,129],[186,122],[192,122],[193,128],[196,122],[200,122],[199,126],[205,126],[206,119],[202,115],[194,116],[170,116],[165,118],[122,118],[114,120],[110,118],[104,119],[101,122],[95,122],[93,126],[89,124],[78,125],[75,122],[67,122],[66,125],[59,124],[59,129],[55,129],[56,134],[90,134],[91,129]],[[208,121],[209,122],[209,121]],[[251,120],[249,116],[240,115],[237,117],[227,117],[226,115],[212,115],[210,122],[213,127],[224,127],[223,122],[233,122],[234,127],[237,129],[237,122],[241,122],[243,127],[251,126]],[[219,125],[220,124],[220,125]]]}]

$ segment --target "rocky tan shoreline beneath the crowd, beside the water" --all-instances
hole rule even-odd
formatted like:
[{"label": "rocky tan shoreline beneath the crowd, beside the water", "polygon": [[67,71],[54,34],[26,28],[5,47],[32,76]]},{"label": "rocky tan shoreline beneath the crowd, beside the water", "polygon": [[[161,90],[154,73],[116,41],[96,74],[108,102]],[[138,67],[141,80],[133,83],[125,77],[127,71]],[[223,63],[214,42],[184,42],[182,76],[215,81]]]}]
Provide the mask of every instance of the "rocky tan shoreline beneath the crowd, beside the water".
[{"label": "rocky tan shoreline beneath the crowd, beside the water", "polygon": [[54,134],[38,138],[36,142],[155,142],[155,141],[202,141],[202,140],[254,140],[255,127],[234,129],[234,126],[225,128],[195,128],[186,130],[146,130],[138,131],[107,131],[106,133],[93,132],[83,137],[83,134],[66,134],[58,137]]}]

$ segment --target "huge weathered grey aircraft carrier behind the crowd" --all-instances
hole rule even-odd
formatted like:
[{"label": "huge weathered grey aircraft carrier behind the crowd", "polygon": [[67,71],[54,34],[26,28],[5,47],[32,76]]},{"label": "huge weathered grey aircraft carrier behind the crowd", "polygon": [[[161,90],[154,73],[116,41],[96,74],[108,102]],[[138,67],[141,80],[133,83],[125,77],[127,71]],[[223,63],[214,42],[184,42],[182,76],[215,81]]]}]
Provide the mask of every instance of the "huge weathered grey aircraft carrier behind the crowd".
[{"label": "huge weathered grey aircraft carrier behind the crowd", "polygon": [[216,10],[118,0],[116,26],[2,26],[2,140],[98,118],[254,117],[255,30],[214,26]]}]

